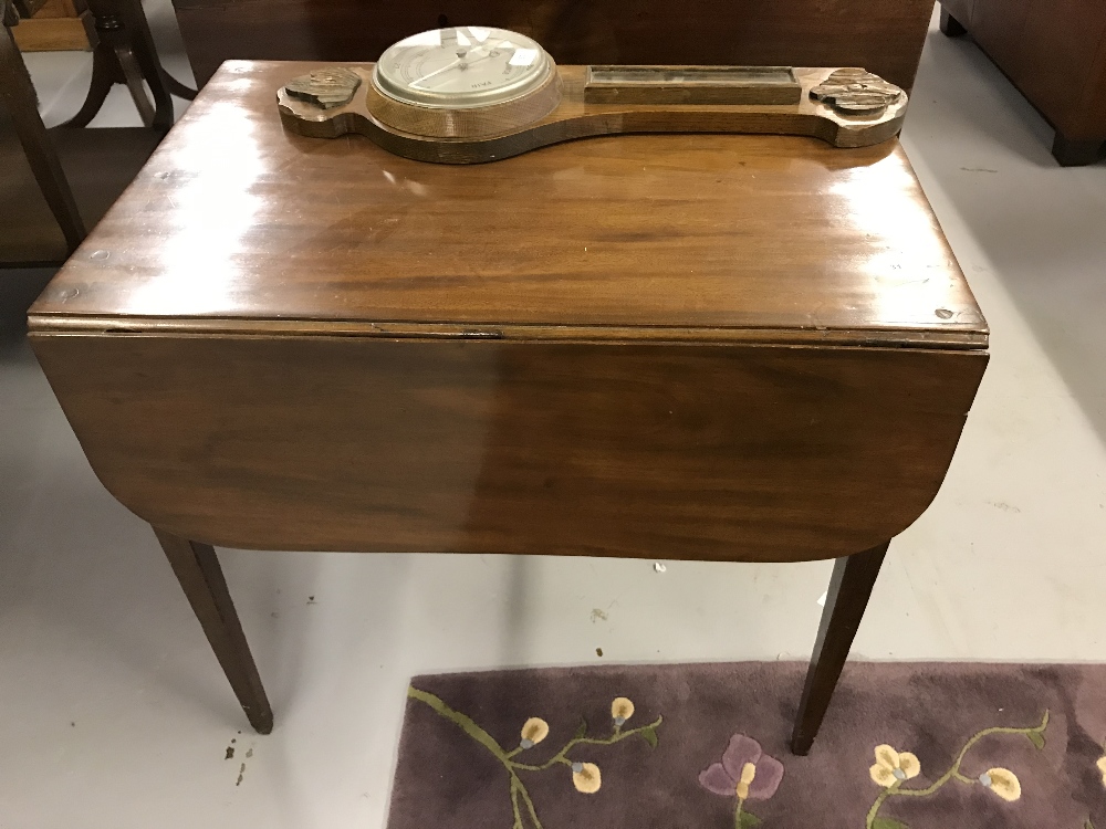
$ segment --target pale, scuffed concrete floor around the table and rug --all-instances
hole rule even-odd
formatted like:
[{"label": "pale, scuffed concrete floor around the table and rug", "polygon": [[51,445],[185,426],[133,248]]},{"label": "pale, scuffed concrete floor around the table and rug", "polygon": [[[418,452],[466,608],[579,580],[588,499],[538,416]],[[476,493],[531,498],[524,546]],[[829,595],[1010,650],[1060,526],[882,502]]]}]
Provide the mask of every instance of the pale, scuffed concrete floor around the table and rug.
[{"label": "pale, scuffed concrete floor around the table and rug", "polygon": [[[166,63],[190,80],[167,10],[150,7]],[[48,120],[75,112],[87,56],[32,59]],[[102,123],[136,123],[122,88]],[[1058,168],[1040,116],[970,42],[936,32],[904,143],[993,357],[855,658],[1100,661],[1106,164]],[[14,335],[0,342],[0,470],[2,829],[383,827],[411,674],[805,659],[830,573],[226,550],[276,712],[258,737],[149,529],[98,484]]]}]

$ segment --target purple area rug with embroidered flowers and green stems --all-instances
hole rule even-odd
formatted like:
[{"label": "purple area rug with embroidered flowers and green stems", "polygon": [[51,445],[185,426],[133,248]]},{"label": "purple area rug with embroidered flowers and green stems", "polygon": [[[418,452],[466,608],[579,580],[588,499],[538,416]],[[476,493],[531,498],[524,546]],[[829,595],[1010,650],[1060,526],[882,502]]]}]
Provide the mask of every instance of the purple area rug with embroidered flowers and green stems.
[{"label": "purple area rug with embroidered flowers and green stems", "polygon": [[1106,665],[849,663],[411,681],[388,829],[1106,829]]}]

